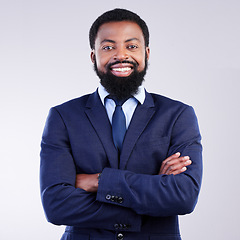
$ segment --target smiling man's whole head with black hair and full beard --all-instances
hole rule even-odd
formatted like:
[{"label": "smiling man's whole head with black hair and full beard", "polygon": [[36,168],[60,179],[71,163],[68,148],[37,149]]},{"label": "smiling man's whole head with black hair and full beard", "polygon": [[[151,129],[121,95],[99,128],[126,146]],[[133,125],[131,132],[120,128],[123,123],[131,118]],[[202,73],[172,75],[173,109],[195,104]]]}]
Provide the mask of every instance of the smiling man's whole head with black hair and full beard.
[{"label": "smiling man's whole head with black hair and full beard", "polygon": [[94,69],[106,90],[119,99],[135,94],[149,58],[149,33],[135,13],[114,9],[101,15],[89,33]]}]

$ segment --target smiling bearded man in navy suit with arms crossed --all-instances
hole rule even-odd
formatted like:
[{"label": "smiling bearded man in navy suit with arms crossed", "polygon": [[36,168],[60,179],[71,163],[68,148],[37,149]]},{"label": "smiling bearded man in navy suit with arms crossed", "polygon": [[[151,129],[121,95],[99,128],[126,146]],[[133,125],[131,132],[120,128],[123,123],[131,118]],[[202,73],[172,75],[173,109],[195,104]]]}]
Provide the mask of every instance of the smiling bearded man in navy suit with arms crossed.
[{"label": "smiling bearded man in navy suit with arms crossed", "polygon": [[106,12],[89,36],[101,84],[52,108],[42,137],[47,219],[67,225],[63,240],[179,240],[202,177],[194,111],[142,87],[150,50],[138,15]]}]

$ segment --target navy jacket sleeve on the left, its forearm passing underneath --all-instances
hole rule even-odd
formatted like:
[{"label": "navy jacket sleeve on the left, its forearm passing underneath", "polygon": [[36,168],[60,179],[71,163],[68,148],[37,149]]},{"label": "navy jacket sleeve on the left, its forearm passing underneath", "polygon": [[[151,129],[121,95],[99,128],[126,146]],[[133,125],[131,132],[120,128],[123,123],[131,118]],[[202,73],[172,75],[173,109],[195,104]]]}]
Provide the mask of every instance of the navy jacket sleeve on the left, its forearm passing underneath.
[{"label": "navy jacket sleeve on the left, its forearm passing underneath", "polygon": [[69,136],[55,108],[50,110],[45,125],[40,156],[41,198],[48,221],[108,230],[114,230],[115,224],[125,224],[126,231],[140,230],[141,216],[132,209],[97,201],[96,194],[75,188],[76,167]]}]

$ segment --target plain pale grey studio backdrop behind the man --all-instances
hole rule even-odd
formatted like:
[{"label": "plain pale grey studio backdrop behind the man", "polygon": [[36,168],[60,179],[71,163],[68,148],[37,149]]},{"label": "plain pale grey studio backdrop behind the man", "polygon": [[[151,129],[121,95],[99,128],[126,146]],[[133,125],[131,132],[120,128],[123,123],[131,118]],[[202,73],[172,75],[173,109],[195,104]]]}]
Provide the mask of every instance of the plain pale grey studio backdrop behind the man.
[{"label": "plain pale grey studio backdrop behind the man", "polygon": [[1,239],[59,239],[39,194],[39,151],[50,107],[92,92],[88,30],[106,10],[137,12],[150,29],[145,86],[192,105],[204,145],[194,213],[184,240],[239,233],[240,2],[234,0],[0,1]]}]

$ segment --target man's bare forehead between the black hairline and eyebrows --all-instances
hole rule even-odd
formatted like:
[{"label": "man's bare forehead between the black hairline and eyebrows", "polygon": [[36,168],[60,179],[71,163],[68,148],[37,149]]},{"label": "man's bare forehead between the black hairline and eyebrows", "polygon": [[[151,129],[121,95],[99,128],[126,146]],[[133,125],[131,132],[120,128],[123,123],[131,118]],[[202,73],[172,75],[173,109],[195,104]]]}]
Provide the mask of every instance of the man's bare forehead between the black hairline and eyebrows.
[{"label": "man's bare forehead between the black hairline and eyebrows", "polygon": [[131,21],[104,23],[98,30],[96,42],[109,39],[115,42],[126,41],[128,39],[137,39],[144,43],[144,36],[140,26]]}]

